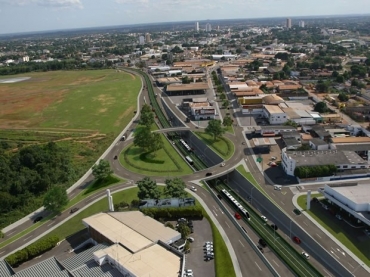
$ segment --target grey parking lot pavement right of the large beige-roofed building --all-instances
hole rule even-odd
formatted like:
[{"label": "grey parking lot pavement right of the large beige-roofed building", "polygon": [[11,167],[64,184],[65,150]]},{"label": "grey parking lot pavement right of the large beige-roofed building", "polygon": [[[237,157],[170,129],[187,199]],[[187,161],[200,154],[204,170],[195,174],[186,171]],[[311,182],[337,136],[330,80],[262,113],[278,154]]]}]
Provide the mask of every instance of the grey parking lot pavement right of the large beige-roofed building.
[{"label": "grey parking lot pavement right of the large beige-roofed building", "polygon": [[204,243],[213,241],[211,226],[206,219],[193,220],[193,224],[194,233],[190,236],[194,238],[194,242],[190,244],[190,253],[186,254],[186,269],[192,269],[194,276],[214,277],[214,260],[205,261],[203,252]]}]

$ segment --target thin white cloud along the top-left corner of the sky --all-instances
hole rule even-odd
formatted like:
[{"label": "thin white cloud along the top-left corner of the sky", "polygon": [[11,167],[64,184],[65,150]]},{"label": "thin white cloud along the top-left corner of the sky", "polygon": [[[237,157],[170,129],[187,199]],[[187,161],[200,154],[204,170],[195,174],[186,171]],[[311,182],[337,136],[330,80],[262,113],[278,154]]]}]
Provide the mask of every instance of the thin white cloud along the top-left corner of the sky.
[{"label": "thin white cloud along the top-left corner of the sky", "polygon": [[0,0],[0,4],[15,6],[37,5],[52,8],[83,8],[81,0]]}]

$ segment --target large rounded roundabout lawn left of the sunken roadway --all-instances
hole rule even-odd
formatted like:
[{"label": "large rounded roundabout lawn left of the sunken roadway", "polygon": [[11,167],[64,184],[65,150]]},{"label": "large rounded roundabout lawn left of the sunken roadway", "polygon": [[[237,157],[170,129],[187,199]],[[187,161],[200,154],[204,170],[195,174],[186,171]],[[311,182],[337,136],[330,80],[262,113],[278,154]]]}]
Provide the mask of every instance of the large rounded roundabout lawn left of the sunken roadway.
[{"label": "large rounded roundabout lawn left of the sunken roadway", "polygon": [[146,154],[141,148],[130,144],[119,156],[121,165],[146,176],[182,176],[193,173],[164,135],[161,137],[163,148],[154,152],[155,155]]}]

